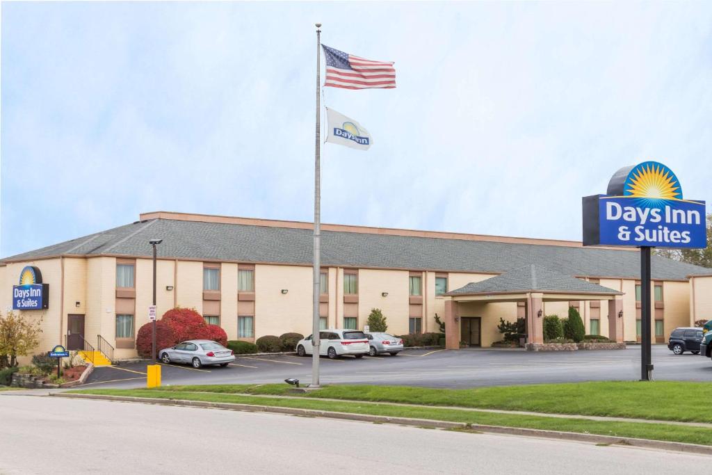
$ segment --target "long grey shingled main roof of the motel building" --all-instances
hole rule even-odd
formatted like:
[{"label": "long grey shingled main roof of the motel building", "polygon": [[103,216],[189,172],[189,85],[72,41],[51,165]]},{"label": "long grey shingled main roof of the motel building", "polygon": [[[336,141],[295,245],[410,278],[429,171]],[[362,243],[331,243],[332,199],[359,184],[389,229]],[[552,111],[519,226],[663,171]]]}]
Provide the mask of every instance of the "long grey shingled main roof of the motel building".
[{"label": "long grey shingled main roof of the motel building", "polygon": [[[58,254],[150,256],[148,240],[162,238],[159,256],[244,262],[309,264],[310,229],[151,219],[73,239],[6,259],[28,260]],[[1,263],[2,261],[0,261]],[[614,249],[510,244],[347,231],[322,231],[325,266],[503,273],[528,264],[567,276],[637,278],[637,252]],[[686,280],[710,270],[652,258],[653,278]]]}]

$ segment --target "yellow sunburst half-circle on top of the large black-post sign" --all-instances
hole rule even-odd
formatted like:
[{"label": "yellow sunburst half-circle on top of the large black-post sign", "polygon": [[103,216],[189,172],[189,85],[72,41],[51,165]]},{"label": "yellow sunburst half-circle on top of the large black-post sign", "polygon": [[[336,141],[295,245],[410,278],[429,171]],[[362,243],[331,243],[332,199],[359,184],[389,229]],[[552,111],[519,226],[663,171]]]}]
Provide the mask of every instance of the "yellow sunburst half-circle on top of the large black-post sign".
[{"label": "yellow sunburst half-circle on top of the large black-post sign", "polygon": [[671,169],[658,162],[634,167],[623,184],[623,195],[651,200],[682,199],[682,187]]}]

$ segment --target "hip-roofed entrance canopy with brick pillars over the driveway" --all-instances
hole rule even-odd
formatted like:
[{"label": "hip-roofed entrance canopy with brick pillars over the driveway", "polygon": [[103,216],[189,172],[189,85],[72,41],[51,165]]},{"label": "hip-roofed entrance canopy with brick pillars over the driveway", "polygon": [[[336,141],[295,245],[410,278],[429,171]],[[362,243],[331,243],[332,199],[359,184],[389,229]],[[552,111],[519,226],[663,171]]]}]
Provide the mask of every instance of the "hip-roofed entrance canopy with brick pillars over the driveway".
[{"label": "hip-roofed entrance canopy with brick pillars over the driveway", "polygon": [[[481,315],[484,318],[499,316],[486,311],[490,304],[523,303],[529,348],[530,344],[544,343],[544,302],[608,301],[609,338],[618,343],[623,341],[622,292],[566,276],[544,266],[530,264],[516,268],[484,281],[468,283],[444,296],[448,299],[445,302],[445,345],[451,350],[461,345],[472,345],[470,342],[475,334],[477,345],[481,345],[481,318],[476,323],[476,330],[473,330],[471,317],[467,315],[475,303],[483,310]],[[488,317],[487,313],[493,313],[493,316]]]}]

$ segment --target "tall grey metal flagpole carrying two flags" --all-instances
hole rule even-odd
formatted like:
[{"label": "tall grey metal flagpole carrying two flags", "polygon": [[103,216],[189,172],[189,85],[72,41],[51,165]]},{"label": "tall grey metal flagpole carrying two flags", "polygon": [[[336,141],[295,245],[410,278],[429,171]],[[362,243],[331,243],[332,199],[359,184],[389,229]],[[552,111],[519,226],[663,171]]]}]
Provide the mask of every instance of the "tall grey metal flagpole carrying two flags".
[{"label": "tall grey metal flagpole carrying two flags", "polygon": [[316,25],[316,137],[314,153],[314,294],[312,321],[312,382],[309,387],[319,387],[319,294],[321,291],[321,24]]}]

